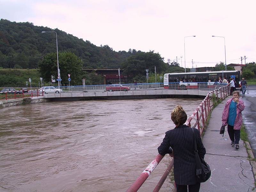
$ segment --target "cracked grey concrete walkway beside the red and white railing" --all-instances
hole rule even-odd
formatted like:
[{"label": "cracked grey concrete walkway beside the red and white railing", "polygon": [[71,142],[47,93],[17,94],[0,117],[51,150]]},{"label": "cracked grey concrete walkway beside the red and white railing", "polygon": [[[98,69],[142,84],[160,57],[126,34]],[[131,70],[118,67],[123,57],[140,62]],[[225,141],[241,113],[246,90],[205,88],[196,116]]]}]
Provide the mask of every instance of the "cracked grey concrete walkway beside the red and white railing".
[{"label": "cracked grey concrete walkway beside the red and white railing", "polygon": [[[210,165],[212,175],[201,183],[200,192],[249,192],[253,190],[252,165],[247,158],[243,140],[239,149],[231,147],[227,126],[224,137],[220,134],[221,116],[225,103],[231,96],[213,109],[209,125],[204,132],[203,144],[206,148],[205,161]],[[246,106],[245,106],[246,107]]]}]

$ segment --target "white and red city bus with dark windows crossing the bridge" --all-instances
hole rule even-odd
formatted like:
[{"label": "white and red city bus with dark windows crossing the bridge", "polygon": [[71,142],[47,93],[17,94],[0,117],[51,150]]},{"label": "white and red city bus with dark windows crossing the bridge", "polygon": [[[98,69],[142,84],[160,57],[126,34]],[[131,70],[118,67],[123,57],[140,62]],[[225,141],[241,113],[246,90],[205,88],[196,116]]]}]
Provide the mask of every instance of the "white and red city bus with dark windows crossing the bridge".
[{"label": "white and red city bus with dark windows crossing the bridge", "polygon": [[201,87],[211,88],[214,82],[221,77],[235,77],[237,86],[240,81],[240,71],[207,71],[207,72],[189,72],[189,73],[166,73],[164,74],[165,89],[198,89]]}]

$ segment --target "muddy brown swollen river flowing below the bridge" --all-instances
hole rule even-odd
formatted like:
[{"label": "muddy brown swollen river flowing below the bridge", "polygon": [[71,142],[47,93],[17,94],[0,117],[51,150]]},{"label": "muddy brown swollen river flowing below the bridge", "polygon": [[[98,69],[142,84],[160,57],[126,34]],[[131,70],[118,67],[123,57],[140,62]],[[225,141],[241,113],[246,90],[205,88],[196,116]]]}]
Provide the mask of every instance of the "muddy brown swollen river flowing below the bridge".
[{"label": "muddy brown swollen river flowing below the bridge", "polygon": [[[0,191],[125,191],[158,154],[172,109],[202,99],[45,102],[0,108]],[[166,159],[167,158],[167,159]],[[139,191],[152,191],[160,162]],[[160,191],[171,191],[168,178]]]}]

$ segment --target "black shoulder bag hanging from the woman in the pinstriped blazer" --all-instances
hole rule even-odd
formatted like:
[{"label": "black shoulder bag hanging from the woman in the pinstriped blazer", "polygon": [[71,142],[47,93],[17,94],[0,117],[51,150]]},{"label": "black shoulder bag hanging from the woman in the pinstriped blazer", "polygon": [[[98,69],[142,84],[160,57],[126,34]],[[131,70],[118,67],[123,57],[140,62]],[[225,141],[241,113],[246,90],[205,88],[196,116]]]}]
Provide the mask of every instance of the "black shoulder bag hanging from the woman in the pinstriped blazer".
[{"label": "black shoulder bag hanging from the woman in the pinstriped blazer", "polygon": [[[192,128],[195,129],[195,128]],[[197,142],[196,142],[196,130],[194,130],[194,146],[195,146],[195,160],[196,160],[196,180],[197,182],[203,183],[207,181],[211,176],[210,166],[204,161],[202,157],[198,155]]]}]

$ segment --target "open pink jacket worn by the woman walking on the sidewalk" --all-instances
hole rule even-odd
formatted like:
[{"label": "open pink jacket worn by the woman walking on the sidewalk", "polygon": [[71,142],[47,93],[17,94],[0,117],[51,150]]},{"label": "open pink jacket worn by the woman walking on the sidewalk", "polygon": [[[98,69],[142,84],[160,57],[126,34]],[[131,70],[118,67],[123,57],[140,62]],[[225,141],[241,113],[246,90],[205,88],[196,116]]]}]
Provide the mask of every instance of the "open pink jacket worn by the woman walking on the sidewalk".
[{"label": "open pink jacket worn by the woman walking on the sidewalk", "polygon": [[[228,121],[228,110],[229,110],[229,105],[233,98],[229,99],[225,105],[225,108],[222,112],[222,123],[227,125]],[[242,111],[244,110],[244,101],[239,99],[239,102],[236,104],[236,120],[234,124],[234,129],[239,130],[241,129],[242,125]]]}]

